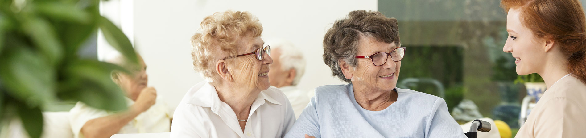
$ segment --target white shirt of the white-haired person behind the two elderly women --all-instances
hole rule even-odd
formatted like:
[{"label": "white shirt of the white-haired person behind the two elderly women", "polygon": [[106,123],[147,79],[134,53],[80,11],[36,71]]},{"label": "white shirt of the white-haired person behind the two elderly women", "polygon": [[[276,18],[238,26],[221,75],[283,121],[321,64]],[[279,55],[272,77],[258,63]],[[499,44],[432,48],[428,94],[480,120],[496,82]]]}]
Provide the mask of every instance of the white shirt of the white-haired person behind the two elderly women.
[{"label": "white shirt of the white-haired person behind the two elderly women", "polygon": [[296,86],[283,86],[279,89],[287,95],[289,102],[291,102],[291,107],[295,112],[295,118],[299,118],[303,109],[309,104],[311,97],[307,97],[307,92],[299,90]]}]

